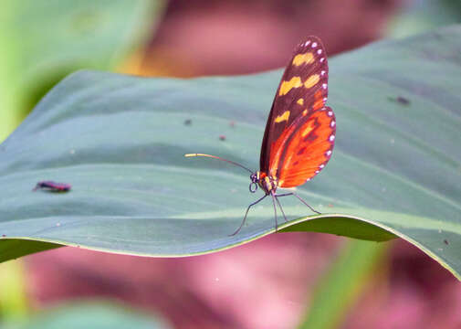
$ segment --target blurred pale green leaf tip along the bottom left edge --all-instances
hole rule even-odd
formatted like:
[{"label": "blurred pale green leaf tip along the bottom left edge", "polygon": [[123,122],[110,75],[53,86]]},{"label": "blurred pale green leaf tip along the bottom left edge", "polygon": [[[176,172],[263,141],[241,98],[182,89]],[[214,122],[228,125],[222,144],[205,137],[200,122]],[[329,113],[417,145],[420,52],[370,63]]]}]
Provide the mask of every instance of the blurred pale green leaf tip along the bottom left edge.
[{"label": "blurred pale green leaf tip along the bottom left edge", "polygon": [[147,314],[110,302],[73,302],[37,313],[23,321],[2,324],[3,329],[166,329]]}]

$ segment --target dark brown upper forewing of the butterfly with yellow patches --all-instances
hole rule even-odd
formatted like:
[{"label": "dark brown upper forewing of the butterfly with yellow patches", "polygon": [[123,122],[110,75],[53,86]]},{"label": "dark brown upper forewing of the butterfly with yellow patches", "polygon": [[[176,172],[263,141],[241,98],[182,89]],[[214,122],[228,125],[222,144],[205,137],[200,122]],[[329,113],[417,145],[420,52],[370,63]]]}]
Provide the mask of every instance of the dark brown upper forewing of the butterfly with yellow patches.
[{"label": "dark brown upper forewing of the butterfly with yellow patches", "polygon": [[328,62],[318,37],[300,43],[283,73],[272,109],[259,159],[261,171],[267,172],[273,143],[303,111],[323,108],[328,96]]}]

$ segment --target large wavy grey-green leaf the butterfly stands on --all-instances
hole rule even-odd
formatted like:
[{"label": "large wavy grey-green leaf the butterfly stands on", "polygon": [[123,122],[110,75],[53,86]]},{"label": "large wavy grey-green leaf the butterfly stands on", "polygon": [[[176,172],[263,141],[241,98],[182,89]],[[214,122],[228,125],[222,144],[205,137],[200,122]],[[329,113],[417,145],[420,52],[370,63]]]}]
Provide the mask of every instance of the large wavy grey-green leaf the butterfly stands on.
[{"label": "large wavy grey-green leaf the butterfly stands on", "polygon": [[[460,48],[456,26],[331,58],[337,142],[330,164],[299,187],[323,214],[284,197],[290,219],[308,217],[280,228],[398,236],[460,278]],[[0,259],[11,239],[165,257],[274,232],[266,199],[229,237],[261,192],[248,193],[241,168],[183,154],[257,169],[280,75],[173,80],[83,71],[62,81],[0,145]],[[73,187],[31,192],[40,180]]]}]

